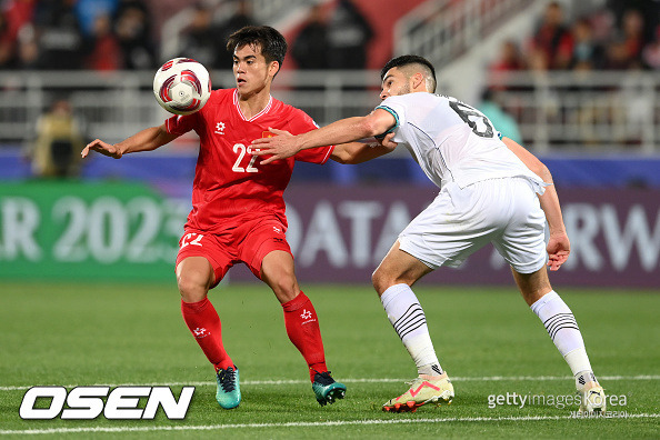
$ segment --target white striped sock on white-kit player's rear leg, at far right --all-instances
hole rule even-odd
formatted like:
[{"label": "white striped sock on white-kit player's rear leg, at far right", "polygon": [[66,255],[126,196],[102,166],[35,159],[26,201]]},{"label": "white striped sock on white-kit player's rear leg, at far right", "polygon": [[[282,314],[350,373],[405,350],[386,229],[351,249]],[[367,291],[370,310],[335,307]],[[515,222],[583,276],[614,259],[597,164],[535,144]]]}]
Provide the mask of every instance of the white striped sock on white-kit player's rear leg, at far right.
[{"label": "white striped sock on white-kit player's rear leg, at far right", "polygon": [[593,376],[576,317],[559,294],[554,290],[546,293],[531,304],[531,309],[543,322],[552,342],[571,368],[576,381],[579,377],[587,377],[586,373]]}]

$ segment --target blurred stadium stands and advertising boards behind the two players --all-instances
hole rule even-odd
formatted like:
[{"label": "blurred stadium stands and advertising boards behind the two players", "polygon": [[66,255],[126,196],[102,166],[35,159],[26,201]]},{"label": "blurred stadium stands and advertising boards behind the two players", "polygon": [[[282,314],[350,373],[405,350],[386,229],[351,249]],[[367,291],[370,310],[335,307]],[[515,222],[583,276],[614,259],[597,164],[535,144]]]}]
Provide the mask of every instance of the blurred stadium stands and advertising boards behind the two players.
[{"label": "blurred stadium stands and advertising boards behind the two players", "polygon": [[[306,37],[306,52],[298,36],[314,4],[322,23],[312,26],[314,39]],[[167,114],[150,91],[154,69],[174,56],[192,57],[212,68],[214,87],[231,87],[220,41],[232,27],[254,22],[277,27],[290,41],[276,97],[321,126],[370,111],[378,69],[392,54],[428,57],[440,92],[481,108],[551,169],[572,239],[571,261],[553,279],[657,287],[658,6],[559,2],[561,27],[549,38],[548,4],[6,0],[0,277],[171,278],[194,136],[121,161],[94,156],[73,163],[66,178],[49,179],[28,158],[30,149],[38,156],[43,137],[53,137],[37,122],[66,100],[84,140],[119,141],[158,124]],[[433,194],[403,150],[361,166],[299,164],[287,200],[301,279],[367,282],[397,232]],[[438,272],[427,282],[509,282],[492,249],[462,270]],[[241,269],[231,277],[251,279]]]}]

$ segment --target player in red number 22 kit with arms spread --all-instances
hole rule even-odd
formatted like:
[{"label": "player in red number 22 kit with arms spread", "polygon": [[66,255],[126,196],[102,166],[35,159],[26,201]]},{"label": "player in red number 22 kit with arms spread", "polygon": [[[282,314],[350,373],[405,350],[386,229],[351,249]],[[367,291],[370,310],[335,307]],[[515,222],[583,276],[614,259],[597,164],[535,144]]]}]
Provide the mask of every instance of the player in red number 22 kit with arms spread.
[{"label": "player in red number 22 kit with arms spread", "polygon": [[317,312],[293,272],[282,193],[296,160],[359,163],[390,149],[378,143],[346,143],[309,149],[262,166],[252,154],[251,142],[271,136],[269,128],[298,134],[318,127],[303,111],[270,96],[287,52],[280,32],[270,27],[246,27],[229,38],[227,49],[233,53],[236,89],[214,90],[200,111],[171,117],[162,126],[119,143],[97,139],[84,148],[82,157],[94,150],[119,159],[157,149],[194,130],[200,152],[192,211],[179,242],[176,273],[183,319],[216,368],[218,403],[226,409],[240,403],[239,370],[223,348],[220,318],[207,294],[238,262],[272,289],[282,304],[289,339],[309,366],[317,400],[321,406],[332,403],[343,398],[346,386],[328,371]]}]

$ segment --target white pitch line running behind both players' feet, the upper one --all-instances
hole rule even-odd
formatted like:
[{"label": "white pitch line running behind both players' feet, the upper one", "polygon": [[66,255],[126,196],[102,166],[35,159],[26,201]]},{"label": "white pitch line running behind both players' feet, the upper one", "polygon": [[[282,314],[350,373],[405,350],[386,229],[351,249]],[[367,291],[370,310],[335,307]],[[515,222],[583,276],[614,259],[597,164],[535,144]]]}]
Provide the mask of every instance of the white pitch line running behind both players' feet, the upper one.
[{"label": "white pitch line running behind both players' feet, the upper one", "polygon": [[[500,381],[548,381],[548,380],[570,380],[570,376],[487,376],[487,377],[451,377],[452,381],[456,382],[500,382]],[[642,374],[642,376],[599,376],[601,381],[614,381],[614,380],[660,380],[658,374]],[[391,379],[391,378],[363,378],[363,379],[341,379],[346,383],[376,383],[376,382],[406,382],[410,379]],[[280,384],[307,384],[308,380],[294,379],[294,380],[242,380],[241,386],[280,386]],[[13,387],[0,387],[0,391],[17,391],[27,390],[37,384],[32,386],[13,386]],[[40,387],[64,387],[76,388],[82,386],[78,384],[42,384]],[[151,383],[91,383],[84,384],[86,387],[204,387],[216,386],[216,382],[151,382]]]}]

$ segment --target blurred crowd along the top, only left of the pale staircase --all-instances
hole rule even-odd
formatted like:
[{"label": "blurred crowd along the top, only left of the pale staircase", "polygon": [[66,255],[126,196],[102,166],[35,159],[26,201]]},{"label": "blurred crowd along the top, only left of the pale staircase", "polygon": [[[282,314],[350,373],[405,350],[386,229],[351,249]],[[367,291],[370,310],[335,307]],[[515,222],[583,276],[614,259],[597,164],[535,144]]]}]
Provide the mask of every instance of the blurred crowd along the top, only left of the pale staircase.
[{"label": "blurred crowd along the top, only left of the pale staircase", "polygon": [[[152,13],[159,7],[158,0],[0,0],[0,70],[156,68],[164,61],[156,37],[162,23]],[[231,13],[218,20],[221,9]],[[246,0],[190,1],[188,10],[189,23],[177,29],[177,53],[168,56],[184,54],[212,69],[231,68],[223,43],[229,34],[262,24]],[[317,6],[290,41],[292,58],[301,69],[362,69],[372,37],[351,0]]]}]

